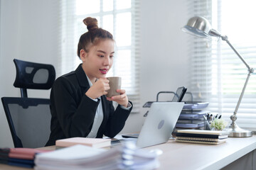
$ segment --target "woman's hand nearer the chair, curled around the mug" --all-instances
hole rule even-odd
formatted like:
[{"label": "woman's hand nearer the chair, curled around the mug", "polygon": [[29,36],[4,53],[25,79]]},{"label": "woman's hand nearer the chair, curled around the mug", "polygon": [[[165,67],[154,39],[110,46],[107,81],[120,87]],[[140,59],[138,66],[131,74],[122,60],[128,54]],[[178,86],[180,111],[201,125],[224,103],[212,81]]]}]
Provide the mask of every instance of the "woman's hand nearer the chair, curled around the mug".
[{"label": "woman's hand nearer the chair, curled around the mug", "polygon": [[102,95],[107,94],[107,90],[110,89],[110,81],[107,78],[98,79],[95,84],[92,84],[90,89],[86,91],[85,95],[90,98],[99,98]]}]

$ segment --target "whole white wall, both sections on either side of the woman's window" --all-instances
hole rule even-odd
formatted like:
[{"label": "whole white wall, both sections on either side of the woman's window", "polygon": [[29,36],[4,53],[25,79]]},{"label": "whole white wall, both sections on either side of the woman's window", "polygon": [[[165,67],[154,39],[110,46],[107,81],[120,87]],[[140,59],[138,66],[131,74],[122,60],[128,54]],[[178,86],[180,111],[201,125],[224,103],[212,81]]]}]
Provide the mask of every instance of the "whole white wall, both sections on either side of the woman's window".
[{"label": "whole white wall, both sections on either side of the woman's window", "polygon": [[[20,96],[13,83],[13,59],[57,66],[58,2],[51,0],[0,0],[0,97]],[[141,0],[141,106],[155,101],[159,91],[186,86],[188,54],[186,0]],[[28,91],[28,96],[48,98],[49,91]],[[142,127],[143,114],[130,115],[122,132]],[[0,104],[0,147],[13,147],[4,109]]]}]

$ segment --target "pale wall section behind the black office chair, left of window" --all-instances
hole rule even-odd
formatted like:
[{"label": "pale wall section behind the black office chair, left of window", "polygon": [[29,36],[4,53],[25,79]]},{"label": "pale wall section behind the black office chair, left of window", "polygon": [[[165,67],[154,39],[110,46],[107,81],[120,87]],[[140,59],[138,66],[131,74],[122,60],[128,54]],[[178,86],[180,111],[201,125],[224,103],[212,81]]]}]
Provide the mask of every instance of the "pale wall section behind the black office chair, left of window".
[{"label": "pale wall section behind the black office chair, left of window", "polygon": [[[51,0],[1,0],[0,24],[0,97],[21,96],[14,88],[14,58],[55,65],[58,51],[58,10]],[[29,91],[28,96],[48,98],[49,91]],[[13,143],[0,104],[0,147]]]}]

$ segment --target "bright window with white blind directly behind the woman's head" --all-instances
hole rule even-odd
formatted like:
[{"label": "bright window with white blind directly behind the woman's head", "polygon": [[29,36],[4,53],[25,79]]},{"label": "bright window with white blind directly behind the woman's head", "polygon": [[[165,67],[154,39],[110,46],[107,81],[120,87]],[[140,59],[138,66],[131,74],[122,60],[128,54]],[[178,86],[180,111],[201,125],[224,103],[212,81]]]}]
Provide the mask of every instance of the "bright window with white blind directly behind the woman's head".
[{"label": "bright window with white blind directly behind the woman's head", "polygon": [[114,64],[107,77],[122,77],[122,89],[139,113],[139,0],[75,0],[62,4],[61,56],[57,74],[73,71],[81,63],[76,55],[80,35],[87,32],[82,20],[97,18],[100,28],[110,31],[116,42]]}]

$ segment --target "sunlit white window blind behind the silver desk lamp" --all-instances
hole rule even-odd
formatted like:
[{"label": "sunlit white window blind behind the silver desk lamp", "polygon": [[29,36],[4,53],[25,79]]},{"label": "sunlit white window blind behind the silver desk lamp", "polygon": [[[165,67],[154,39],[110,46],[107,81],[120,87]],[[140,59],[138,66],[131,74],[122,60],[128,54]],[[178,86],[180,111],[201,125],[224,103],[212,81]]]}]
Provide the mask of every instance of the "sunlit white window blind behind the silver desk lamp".
[{"label": "sunlit white window blind behind the silver desk lamp", "polygon": [[[203,16],[213,29],[235,47],[250,67],[256,67],[256,11],[253,0],[194,0],[188,2],[190,16]],[[246,19],[245,19],[246,18]],[[211,113],[222,115],[230,123],[242,87],[247,67],[223,40],[190,38],[190,90],[196,101],[209,101]],[[241,128],[256,130],[256,77],[251,74],[238,109],[236,123]]]}]

